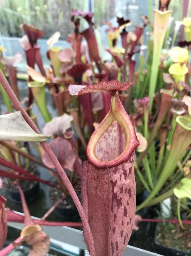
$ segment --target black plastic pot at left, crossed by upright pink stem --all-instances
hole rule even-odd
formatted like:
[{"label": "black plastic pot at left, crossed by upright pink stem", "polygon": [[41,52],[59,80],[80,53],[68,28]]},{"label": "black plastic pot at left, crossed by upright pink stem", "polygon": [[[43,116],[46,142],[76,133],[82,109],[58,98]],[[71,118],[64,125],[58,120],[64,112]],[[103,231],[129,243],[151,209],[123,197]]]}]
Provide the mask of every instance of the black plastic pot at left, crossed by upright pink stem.
[{"label": "black plastic pot at left, crossed by upright pink stem", "polygon": [[[39,185],[39,182],[37,182],[32,188],[23,190],[26,201],[31,202],[34,199],[36,199],[39,194],[39,189],[40,189],[40,185]],[[14,201],[15,203],[21,203],[21,197],[19,192],[8,190],[8,193],[12,201]]]}]

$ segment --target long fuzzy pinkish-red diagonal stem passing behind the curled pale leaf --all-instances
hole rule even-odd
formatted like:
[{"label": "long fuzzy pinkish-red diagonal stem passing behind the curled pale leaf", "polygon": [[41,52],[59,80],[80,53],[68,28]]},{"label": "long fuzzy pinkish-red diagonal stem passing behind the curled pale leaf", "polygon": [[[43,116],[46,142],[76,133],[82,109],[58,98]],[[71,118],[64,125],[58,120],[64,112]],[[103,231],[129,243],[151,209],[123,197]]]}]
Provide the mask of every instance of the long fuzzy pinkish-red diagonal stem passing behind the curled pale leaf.
[{"label": "long fuzzy pinkish-red diagonal stem passing behind the curled pale leaf", "polygon": [[[6,93],[8,94],[10,100],[12,101],[13,105],[15,106],[15,109],[17,111],[21,111],[25,121],[28,123],[28,125],[38,134],[40,134],[39,130],[37,129],[34,122],[31,120],[31,118],[28,116],[27,112],[22,107],[21,103],[18,101],[17,97],[15,96],[13,90],[11,89],[10,85],[6,81],[5,76],[3,76],[2,71],[0,70],[0,83],[2,83],[3,88],[5,89]],[[49,147],[49,145],[46,142],[40,142],[42,147],[44,148],[45,152],[49,156],[49,158],[52,160],[52,163],[54,164],[57,172],[59,173],[60,177],[62,178],[63,182],[66,185],[66,188],[68,189],[72,199],[74,200],[74,203],[76,205],[76,208],[78,209],[79,215],[81,217],[81,220],[83,221],[83,227],[86,229],[88,239],[89,239],[89,251],[91,256],[95,256],[95,248],[94,248],[94,240],[92,237],[91,229],[86,217],[86,214],[84,212],[84,209],[79,201],[78,195],[76,194],[72,184],[70,183],[70,180],[68,179],[65,171],[63,170],[62,166],[60,165],[58,159],[56,158],[55,154],[52,152],[52,149]]]}]

